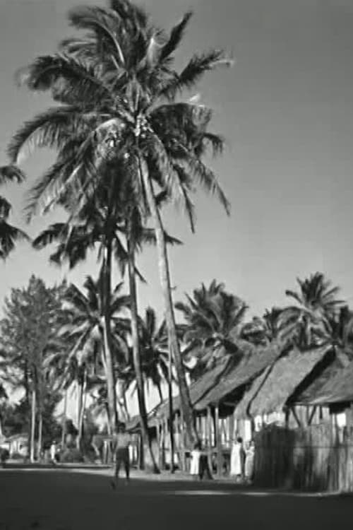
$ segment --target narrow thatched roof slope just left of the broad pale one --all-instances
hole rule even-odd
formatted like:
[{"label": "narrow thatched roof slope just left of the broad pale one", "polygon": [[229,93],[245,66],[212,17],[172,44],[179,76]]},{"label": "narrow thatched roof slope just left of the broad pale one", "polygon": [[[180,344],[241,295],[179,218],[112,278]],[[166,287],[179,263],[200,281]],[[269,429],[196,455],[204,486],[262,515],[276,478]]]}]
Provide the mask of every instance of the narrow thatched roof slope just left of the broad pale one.
[{"label": "narrow thatched roof slope just left of the broad pale one", "polygon": [[251,352],[249,351],[244,355],[237,366],[229,370],[216,387],[198,401],[195,406],[196,410],[202,411],[208,405],[219,403],[232,391],[251,382],[265,368],[272,365],[281,353],[282,349],[277,344],[271,344],[265,348],[253,347]]}]

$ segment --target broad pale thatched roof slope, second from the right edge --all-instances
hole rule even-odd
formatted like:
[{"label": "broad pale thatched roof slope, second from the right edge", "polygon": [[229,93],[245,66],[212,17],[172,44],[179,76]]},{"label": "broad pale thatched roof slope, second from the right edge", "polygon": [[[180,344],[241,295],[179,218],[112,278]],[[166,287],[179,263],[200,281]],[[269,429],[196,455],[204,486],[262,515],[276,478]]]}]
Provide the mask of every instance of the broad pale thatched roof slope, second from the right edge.
[{"label": "broad pale thatched roof slope, second from the right edge", "polygon": [[294,349],[278,358],[246,391],[237,406],[237,418],[282,411],[288,399],[330,350],[330,346],[305,352]]}]

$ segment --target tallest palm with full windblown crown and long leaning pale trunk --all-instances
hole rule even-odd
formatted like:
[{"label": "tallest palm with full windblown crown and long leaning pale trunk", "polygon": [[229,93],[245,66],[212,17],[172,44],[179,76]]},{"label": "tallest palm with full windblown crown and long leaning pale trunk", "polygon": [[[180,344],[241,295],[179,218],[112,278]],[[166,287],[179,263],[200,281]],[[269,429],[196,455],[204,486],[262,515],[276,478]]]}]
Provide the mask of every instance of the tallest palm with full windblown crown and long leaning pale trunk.
[{"label": "tallest palm with full windblown crown and long leaning pale trunk", "polygon": [[[195,55],[177,72],[174,52],[184,35],[191,14],[186,13],[169,35],[156,29],[145,13],[126,0],[111,0],[109,8],[82,7],[69,13],[71,24],[88,30],[85,37],[61,43],[60,53],[39,57],[22,76],[32,90],[51,90],[61,103],[25,124],[9,148],[11,160],[28,140],[59,149],[82,124],[85,142],[78,153],[59,155],[54,167],[37,184],[33,201],[45,206],[64,188],[75,187],[83,196],[92,192],[100,165],[124,157],[140,208],[151,216],[157,240],[160,280],[169,333],[169,347],[177,368],[181,404],[189,437],[196,434],[177,340],[169,266],[157,188],[165,189],[184,205],[193,228],[191,184],[217,194],[229,204],[213,172],[202,161],[211,146],[222,148],[219,136],[208,132],[211,113],[193,102],[176,102],[184,88],[192,88],[203,73],[229,64],[222,52]],[[64,167],[63,167],[64,164]],[[58,178],[58,172],[60,178]],[[85,179],[82,179],[83,172]],[[90,173],[92,178],[87,179]],[[53,199],[54,197],[54,199]]]}]

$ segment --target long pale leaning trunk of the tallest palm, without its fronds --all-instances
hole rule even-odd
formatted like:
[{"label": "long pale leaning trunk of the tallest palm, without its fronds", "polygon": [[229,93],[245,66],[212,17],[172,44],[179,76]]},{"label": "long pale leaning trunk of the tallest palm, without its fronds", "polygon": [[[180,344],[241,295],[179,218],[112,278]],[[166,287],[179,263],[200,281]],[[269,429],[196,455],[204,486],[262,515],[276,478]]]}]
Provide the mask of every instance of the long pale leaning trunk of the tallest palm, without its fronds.
[{"label": "long pale leaning trunk of the tallest palm, without its fronds", "polygon": [[179,341],[177,338],[177,329],[175,325],[174,308],[172,301],[172,290],[170,285],[169,266],[167,257],[167,246],[164,237],[164,228],[162,225],[162,219],[160,217],[160,211],[155,201],[155,194],[152,188],[152,182],[148,175],[148,171],[142,167],[140,160],[140,172],[142,173],[143,183],[145,185],[145,193],[148,200],[148,206],[150,213],[155,225],[155,237],[157,241],[157,253],[158,253],[158,266],[160,269],[160,283],[162,286],[162,292],[164,296],[164,310],[165,319],[168,330],[168,341],[169,351],[174,359],[174,364],[177,370],[177,378],[179,384],[179,394],[181,399],[181,409],[183,411],[186,436],[189,444],[193,444],[198,439],[198,435],[193,421],[193,411],[191,407],[189,387],[186,383],[186,377],[184,372],[184,365],[181,359],[181,352],[179,348]]}]

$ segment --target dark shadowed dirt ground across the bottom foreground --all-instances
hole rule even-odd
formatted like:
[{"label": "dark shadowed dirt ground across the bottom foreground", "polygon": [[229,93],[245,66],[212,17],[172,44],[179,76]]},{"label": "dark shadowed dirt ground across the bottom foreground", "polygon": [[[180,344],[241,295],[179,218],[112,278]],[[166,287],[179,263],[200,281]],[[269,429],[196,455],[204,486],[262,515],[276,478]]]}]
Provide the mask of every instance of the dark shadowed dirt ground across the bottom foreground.
[{"label": "dark shadowed dirt ground across the bottom foreground", "polygon": [[113,491],[97,473],[0,472],[0,530],[328,530],[352,521],[352,497],[139,479]]}]

